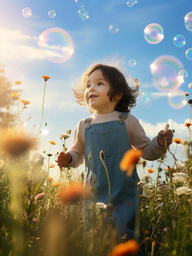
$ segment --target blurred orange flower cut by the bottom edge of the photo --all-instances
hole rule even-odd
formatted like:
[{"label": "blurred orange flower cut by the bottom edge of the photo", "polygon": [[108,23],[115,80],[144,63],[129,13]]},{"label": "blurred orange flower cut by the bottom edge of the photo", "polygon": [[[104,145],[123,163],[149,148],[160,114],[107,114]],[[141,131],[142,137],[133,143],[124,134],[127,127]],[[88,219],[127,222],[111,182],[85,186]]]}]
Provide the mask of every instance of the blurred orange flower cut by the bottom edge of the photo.
[{"label": "blurred orange flower cut by the bottom edge of the photo", "polygon": [[130,239],[126,243],[116,245],[108,256],[129,256],[139,252],[139,244],[137,241]]}]

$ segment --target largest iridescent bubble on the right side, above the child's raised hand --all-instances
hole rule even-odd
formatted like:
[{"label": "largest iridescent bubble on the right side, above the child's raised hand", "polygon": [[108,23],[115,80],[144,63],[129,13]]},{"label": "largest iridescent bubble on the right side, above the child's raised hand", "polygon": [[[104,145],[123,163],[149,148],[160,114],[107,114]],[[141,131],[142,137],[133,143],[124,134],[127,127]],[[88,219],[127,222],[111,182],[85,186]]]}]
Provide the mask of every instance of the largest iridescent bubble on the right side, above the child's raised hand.
[{"label": "largest iridescent bubble on the right side, above the child's raised hand", "polygon": [[150,65],[154,86],[161,92],[172,92],[178,89],[182,84],[180,70],[183,70],[183,65],[174,56],[163,55],[155,59]]}]

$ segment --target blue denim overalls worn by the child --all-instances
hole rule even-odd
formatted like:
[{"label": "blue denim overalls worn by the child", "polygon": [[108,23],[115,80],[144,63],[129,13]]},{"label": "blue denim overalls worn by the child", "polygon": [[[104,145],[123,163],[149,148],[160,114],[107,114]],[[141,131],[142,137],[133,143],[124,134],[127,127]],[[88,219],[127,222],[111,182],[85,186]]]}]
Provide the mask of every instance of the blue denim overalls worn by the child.
[{"label": "blue denim overalls worn by the child", "polygon": [[[100,151],[104,152],[104,162],[110,179],[110,202],[114,206],[113,217],[119,231],[119,237],[126,234],[128,239],[134,237],[136,204],[138,199],[137,171],[131,177],[119,169],[119,162],[124,153],[132,148],[124,119],[127,112],[121,112],[119,120],[91,124],[92,119],[84,120],[85,161],[87,164],[86,182],[93,186],[96,175],[97,202],[108,204],[108,179],[100,159]],[[91,152],[91,161],[90,154]],[[93,163],[93,165],[92,165]],[[141,191],[139,191],[139,194]],[[138,205],[139,207],[139,205]],[[138,208],[140,210],[140,208]]]}]

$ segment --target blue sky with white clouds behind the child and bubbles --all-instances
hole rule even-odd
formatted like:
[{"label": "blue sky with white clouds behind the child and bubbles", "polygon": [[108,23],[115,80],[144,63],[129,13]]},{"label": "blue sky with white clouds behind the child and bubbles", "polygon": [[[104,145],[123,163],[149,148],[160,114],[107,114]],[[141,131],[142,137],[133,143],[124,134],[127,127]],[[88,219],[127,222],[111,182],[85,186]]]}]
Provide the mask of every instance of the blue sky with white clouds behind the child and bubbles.
[{"label": "blue sky with white clouds behind the child and bubbles", "polygon": [[[22,15],[26,7],[32,11],[29,18]],[[78,16],[78,10],[82,8],[88,13],[89,18],[86,20]],[[54,18],[49,18],[50,10],[55,11]],[[141,83],[141,93],[132,115],[139,119],[146,134],[152,138],[169,124],[175,130],[175,137],[187,138],[188,129],[184,124],[190,117],[188,104],[179,108],[179,98],[178,102],[175,99],[173,106],[169,105],[168,92],[162,93],[153,84],[150,65],[165,55],[179,60],[182,69],[188,72],[179,90],[189,92],[187,100],[190,99],[191,89],[188,84],[192,83],[192,60],[186,58],[185,52],[192,48],[192,32],[186,29],[184,17],[191,11],[191,0],[138,0],[132,7],[127,6],[126,0],[2,2],[0,62],[13,69],[19,67],[23,73],[24,79],[18,90],[22,90],[22,99],[31,101],[24,110],[23,121],[32,117],[38,126],[44,90],[41,76],[51,76],[46,84],[44,106],[44,122],[48,124],[46,129],[49,129],[49,133],[42,140],[42,148],[49,146],[49,140],[60,144],[61,133],[69,128],[73,134],[78,121],[89,116],[87,110],[76,103],[71,90],[72,83],[91,63],[111,60],[114,56],[124,59],[124,68],[128,74],[138,78]],[[109,31],[112,23],[119,27],[116,34]],[[163,28],[164,38],[160,43],[148,43],[144,38],[143,31],[151,23]],[[48,61],[38,45],[42,32],[55,27],[64,29],[74,44],[71,58],[62,63]],[[173,38],[179,34],[186,40],[183,47],[173,43]],[[130,59],[135,59],[135,66],[129,65]],[[15,85],[13,88],[16,88]],[[150,102],[144,103],[142,94],[144,99],[149,95]],[[68,139],[67,146],[71,145],[71,141],[71,138]]]}]

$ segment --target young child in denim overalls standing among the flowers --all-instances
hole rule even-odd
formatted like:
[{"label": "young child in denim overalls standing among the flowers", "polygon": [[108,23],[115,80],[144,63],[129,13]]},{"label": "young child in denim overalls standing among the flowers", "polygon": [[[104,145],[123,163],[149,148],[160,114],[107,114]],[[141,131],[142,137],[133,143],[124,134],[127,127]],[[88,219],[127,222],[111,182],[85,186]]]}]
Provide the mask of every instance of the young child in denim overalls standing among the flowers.
[{"label": "young child in denim overalls standing among the flowers", "polygon": [[119,237],[126,234],[128,239],[133,238],[139,177],[136,169],[128,177],[126,172],[120,171],[119,162],[130,148],[141,149],[144,159],[159,159],[172,143],[172,130],[161,130],[152,140],[146,136],[139,121],[130,114],[130,109],[136,106],[138,80],[135,79],[135,86],[130,87],[124,74],[116,67],[104,64],[90,67],[73,92],[77,102],[87,106],[93,115],[79,121],[73,146],[67,150],[66,158],[64,152],[58,155],[57,165],[60,168],[78,167],[85,159],[86,182],[93,185],[93,176],[96,175],[97,202],[107,204],[108,179],[100,159],[102,150],[109,173],[110,202],[114,206],[113,216]]}]

